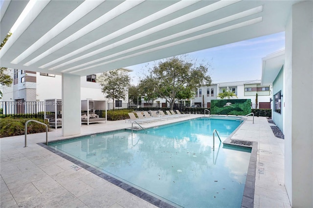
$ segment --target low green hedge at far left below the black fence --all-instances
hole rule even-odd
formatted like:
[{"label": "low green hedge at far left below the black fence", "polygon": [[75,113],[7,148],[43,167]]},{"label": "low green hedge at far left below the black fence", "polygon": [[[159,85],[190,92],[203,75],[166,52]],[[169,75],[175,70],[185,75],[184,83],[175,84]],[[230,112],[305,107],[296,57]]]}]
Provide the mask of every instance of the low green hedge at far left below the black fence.
[{"label": "low green hedge at far left below the black fence", "polygon": [[[0,137],[24,135],[25,123],[26,121],[31,120],[31,119],[44,123],[44,120],[38,119],[38,118],[28,118],[28,119],[12,118],[12,117],[1,118]],[[48,125],[47,122],[45,122],[45,124]],[[40,132],[45,132],[45,125],[41,125],[35,122],[28,123],[27,134],[40,133]]]}]

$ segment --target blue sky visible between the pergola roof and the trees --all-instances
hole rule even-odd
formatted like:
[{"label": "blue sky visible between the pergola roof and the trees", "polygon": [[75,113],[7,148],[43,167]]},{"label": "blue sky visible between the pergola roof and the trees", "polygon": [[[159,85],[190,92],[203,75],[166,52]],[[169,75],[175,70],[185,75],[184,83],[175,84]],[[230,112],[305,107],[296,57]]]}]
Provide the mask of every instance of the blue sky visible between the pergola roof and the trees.
[{"label": "blue sky visible between the pergola roof and the trees", "polygon": [[[209,70],[212,83],[261,80],[262,58],[285,48],[285,32],[263,36],[242,42],[235,42],[219,47],[189,53],[190,58],[211,62]],[[155,62],[148,62],[152,67]],[[133,84],[138,83],[148,63],[141,63],[127,68]]]}]

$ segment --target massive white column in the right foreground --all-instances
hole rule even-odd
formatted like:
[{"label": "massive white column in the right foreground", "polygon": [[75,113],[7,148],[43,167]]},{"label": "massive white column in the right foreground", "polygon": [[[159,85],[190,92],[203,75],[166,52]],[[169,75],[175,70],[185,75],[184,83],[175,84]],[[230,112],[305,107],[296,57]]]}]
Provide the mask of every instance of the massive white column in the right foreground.
[{"label": "massive white column in the right foreground", "polygon": [[292,207],[313,207],[313,1],[292,6],[284,68],[285,186]]}]

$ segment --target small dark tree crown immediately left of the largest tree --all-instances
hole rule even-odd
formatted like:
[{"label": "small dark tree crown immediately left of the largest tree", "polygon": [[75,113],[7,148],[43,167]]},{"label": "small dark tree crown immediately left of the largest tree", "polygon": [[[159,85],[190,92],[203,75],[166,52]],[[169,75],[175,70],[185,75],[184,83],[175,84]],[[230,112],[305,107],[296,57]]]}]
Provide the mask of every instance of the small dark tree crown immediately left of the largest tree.
[{"label": "small dark tree crown immediately left of the largest tree", "polygon": [[153,103],[158,98],[157,94],[157,81],[148,75],[141,79],[138,84],[139,94],[144,97],[144,100],[148,103]]}]

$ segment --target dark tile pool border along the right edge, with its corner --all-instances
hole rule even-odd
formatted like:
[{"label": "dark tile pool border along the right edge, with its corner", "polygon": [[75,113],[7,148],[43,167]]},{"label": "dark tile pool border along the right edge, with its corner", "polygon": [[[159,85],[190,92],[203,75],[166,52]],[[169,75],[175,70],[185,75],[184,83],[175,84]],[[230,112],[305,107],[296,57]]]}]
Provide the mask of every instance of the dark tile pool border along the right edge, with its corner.
[{"label": "dark tile pool border along the right edge, with its corner", "polygon": [[[236,139],[237,140],[237,139]],[[230,137],[228,137],[224,142],[223,145],[226,146],[243,146],[243,147],[250,147],[251,148],[251,155],[250,161],[248,166],[248,172],[246,174],[246,184],[244,189],[243,200],[241,202],[242,208],[253,208],[254,204],[254,188],[255,188],[255,171],[256,171],[256,159],[257,159],[257,151],[258,151],[258,143],[252,142],[251,146],[240,145],[240,144],[233,144],[231,143]],[[246,140],[239,140],[245,142],[251,142]]]}]

